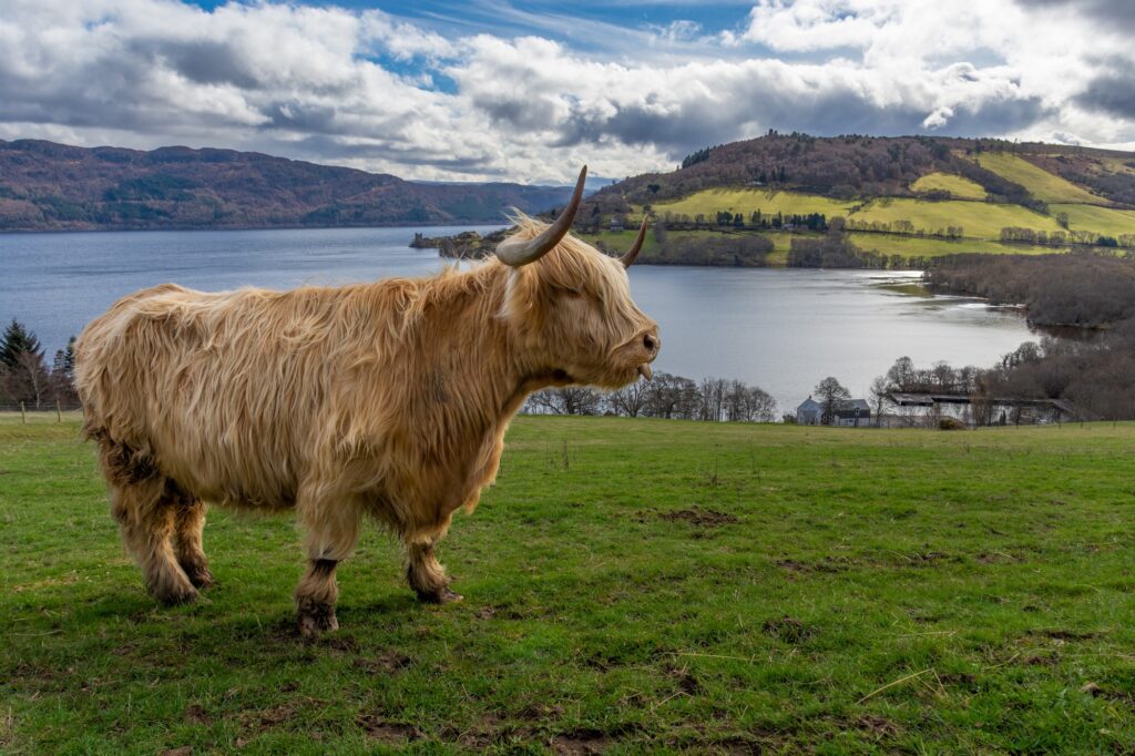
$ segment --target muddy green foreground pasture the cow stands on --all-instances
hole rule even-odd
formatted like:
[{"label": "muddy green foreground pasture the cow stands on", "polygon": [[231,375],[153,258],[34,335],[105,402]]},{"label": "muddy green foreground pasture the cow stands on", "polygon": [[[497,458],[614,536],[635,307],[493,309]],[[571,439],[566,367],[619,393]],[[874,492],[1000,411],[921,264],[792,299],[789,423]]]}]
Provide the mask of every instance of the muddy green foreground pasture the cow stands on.
[{"label": "muddy green foreground pasture the cow stands on", "polygon": [[421,606],[370,530],[303,642],[287,518],[161,608],[78,426],[0,423],[10,754],[1130,753],[1135,426],[522,418]]}]

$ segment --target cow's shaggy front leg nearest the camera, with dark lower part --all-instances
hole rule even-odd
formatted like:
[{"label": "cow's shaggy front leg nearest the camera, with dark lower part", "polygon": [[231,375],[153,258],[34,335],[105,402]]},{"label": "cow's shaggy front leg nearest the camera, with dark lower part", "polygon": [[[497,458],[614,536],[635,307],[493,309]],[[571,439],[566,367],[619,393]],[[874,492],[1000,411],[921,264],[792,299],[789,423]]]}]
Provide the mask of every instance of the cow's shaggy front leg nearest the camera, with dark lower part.
[{"label": "cow's shaggy front leg nearest the camera, with dark lower part", "polygon": [[305,529],[308,570],[295,589],[295,608],[300,635],[308,638],[339,628],[335,569],[354,551],[360,510],[354,502],[310,497],[301,497],[296,509]]}]

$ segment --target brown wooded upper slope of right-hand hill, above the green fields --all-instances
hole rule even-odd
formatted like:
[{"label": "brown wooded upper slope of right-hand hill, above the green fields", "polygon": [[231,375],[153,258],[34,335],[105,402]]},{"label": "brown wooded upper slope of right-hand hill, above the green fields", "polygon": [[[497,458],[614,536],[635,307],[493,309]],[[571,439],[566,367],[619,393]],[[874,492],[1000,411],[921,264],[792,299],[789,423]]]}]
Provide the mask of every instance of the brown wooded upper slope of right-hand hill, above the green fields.
[{"label": "brown wooded upper slope of right-hand hill, above the green fields", "polygon": [[[1012,154],[1081,186],[1102,205],[1135,205],[1135,153],[1003,140],[931,136],[767,135],[706,148],[670,173],[644,174],[597,192],[589,212],[631,212],[631,205],[663,203],[721,187],[792,191],[835,200],[925,198],[919,178],[957,176],[984,190],[986,200],[1033,205],[1041,198],[1027,180],[983,165],[983,154]],[[911,186],[915,184],[915,186]],[[949,199],[940,190],[936,199]],[[931,199],[935,199],[931,196]],[[957,199],[957,198],[956,198]]]}]

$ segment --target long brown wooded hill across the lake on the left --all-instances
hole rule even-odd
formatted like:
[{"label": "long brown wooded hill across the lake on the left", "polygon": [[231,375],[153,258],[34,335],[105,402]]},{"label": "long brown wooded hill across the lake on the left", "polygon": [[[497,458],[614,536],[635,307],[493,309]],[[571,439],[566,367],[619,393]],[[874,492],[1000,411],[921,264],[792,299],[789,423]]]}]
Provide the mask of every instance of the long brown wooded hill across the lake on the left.
[{"label": "long brown wooded hill across the lake on the left", "polygon": [[257,152],[0,140],[0,230],[501,222],[570,187],[420,184]]}]

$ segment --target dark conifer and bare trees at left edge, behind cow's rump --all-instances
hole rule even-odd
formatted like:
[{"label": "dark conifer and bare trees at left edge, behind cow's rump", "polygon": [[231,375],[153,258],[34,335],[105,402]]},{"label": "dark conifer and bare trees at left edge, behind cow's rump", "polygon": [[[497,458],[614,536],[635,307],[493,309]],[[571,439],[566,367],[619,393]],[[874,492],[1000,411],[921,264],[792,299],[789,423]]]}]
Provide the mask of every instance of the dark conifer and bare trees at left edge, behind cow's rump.
[{"label": "dark conifer and bare trees at left edge, behind cow's rump", "polygon": [[48,364],[40,339],[24,324],[12,320],[5,328],[0,336],[0,404],[28,410],[76,408],[74,376],[74,336]]}]

